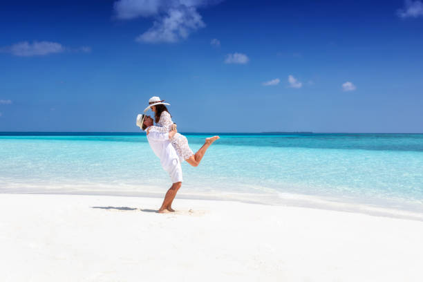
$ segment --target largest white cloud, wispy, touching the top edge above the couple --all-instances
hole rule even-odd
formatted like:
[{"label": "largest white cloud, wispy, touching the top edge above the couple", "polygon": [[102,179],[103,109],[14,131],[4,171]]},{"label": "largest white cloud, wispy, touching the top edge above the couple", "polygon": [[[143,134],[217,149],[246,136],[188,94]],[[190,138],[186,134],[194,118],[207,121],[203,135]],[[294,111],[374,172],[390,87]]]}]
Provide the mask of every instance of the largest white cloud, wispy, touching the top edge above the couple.
[{"label": "largest white cloud, wispy, touching the top edge above the couple", "polygon": [[197,9],[221,0],[118,0],[113,3],[117,19],[155,17],[153,26],[135,38],[145,43],[176,42],[204,28]]}]

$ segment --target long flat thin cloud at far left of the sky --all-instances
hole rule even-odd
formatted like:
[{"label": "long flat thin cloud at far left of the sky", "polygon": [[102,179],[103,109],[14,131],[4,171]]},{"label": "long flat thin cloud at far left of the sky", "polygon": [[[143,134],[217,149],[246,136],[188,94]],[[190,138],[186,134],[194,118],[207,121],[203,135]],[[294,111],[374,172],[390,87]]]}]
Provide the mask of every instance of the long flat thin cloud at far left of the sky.
[{"label": "long flat thin cloud at far left of the sky", "polygon": [[50,41],[33,41],[30,44],[28,41],[21,41],[11,46],[0,48],[2,53],[10,53],[20,57],[31,57],[31,56],[45,56],[55,53],[63,53],[65,51],[73,52],[91,52],[91,47],[82,46],[80,48],[66,48],[62,44]]}]

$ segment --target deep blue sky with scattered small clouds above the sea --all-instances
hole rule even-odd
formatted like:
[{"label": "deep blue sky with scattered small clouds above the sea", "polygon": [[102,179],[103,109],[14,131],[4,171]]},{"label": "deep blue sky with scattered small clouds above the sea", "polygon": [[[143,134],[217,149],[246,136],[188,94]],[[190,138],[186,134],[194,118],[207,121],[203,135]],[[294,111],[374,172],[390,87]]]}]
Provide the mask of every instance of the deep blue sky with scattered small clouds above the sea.
[{"label": "deep blue sky with scattered small clouds above the sea", "polygon": [[423,133],[422,1],[13,1],[0,131]]}]

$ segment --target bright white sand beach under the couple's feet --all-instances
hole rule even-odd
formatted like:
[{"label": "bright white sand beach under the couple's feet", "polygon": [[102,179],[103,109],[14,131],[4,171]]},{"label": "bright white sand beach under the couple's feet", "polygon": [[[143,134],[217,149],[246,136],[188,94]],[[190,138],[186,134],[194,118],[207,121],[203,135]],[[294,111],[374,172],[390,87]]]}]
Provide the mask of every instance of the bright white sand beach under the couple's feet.
[{"label": "bright white sand beach under the couple's feet", "polygon": [[423,222],[176,198],[0,194],[0,281],[423,281]]}]

